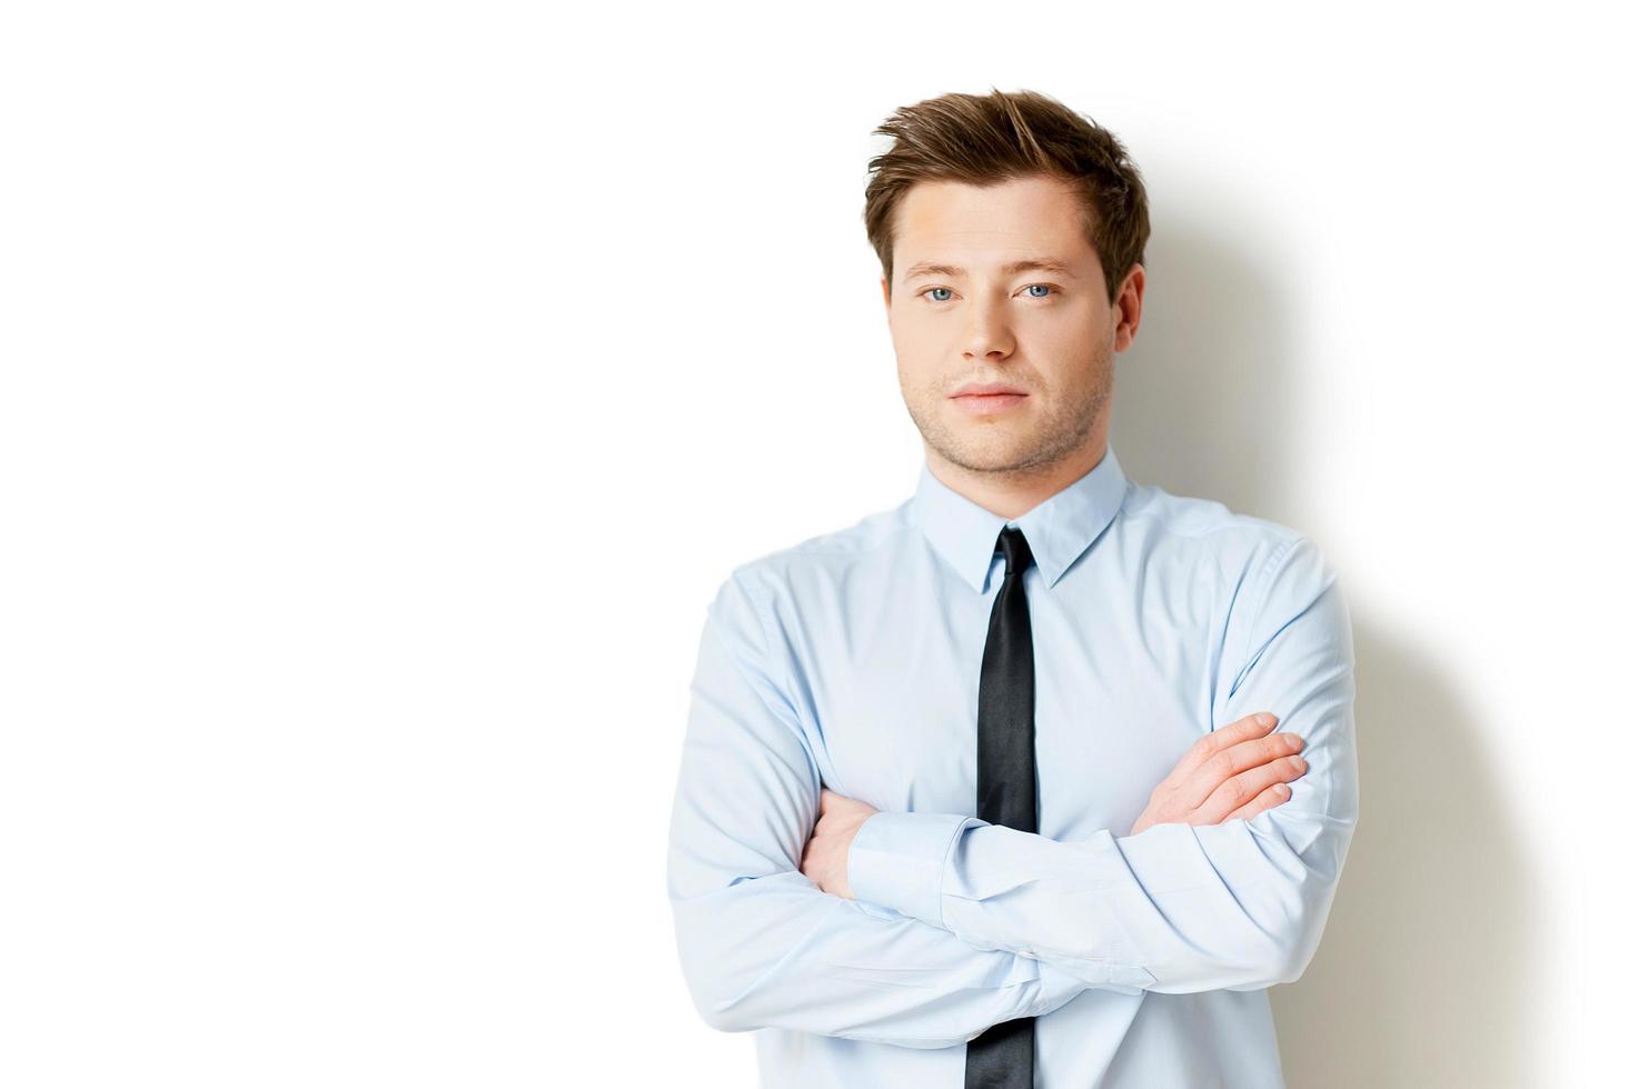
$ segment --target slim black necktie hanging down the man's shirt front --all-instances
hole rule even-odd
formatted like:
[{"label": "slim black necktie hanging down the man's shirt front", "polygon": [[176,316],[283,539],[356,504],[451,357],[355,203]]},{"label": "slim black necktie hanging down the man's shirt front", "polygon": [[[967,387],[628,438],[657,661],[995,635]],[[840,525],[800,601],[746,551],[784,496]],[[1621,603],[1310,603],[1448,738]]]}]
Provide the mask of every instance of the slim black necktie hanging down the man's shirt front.
[{"label": "slim black necktie hanging down the man's shirt front", "polygon": [[[978,816],[1035,832],[1035,644],[1029,630],[1024,572],[1035,560],[1022,531],[1001,531],[1007,573],[989,611],[989,639],[978,675]],[[991,1025],[966,1042],[965,1089],[1032,1089],[1035,1019]]]}]

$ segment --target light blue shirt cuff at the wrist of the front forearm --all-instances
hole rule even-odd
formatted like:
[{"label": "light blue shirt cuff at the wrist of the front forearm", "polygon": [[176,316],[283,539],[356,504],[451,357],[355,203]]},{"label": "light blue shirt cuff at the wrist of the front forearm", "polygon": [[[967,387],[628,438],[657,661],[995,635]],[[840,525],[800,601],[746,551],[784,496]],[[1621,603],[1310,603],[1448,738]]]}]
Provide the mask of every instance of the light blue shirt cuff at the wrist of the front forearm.
[{"label": "light blue shirt cuff at the wrist of the front forearm", "polygon": [[950,812],[875,812],[847,850],[853,899],[943,927],[943,866],[963,827],[978,817]]}]

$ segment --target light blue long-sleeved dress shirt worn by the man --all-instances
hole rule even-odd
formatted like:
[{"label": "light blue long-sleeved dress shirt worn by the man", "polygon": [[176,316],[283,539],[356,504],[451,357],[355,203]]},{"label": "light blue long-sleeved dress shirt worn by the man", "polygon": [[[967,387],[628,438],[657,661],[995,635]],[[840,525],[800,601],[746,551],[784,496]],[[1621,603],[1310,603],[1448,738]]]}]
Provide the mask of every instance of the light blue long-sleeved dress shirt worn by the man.
[{"label": "light blue long-sleeved dress shirt worn by the man", "polygon": [[[1024,531],[1040,834],[976,811],[978,675]],[[1358,817],[1353,640],[1304,535],[1096,468],[1016,519],[940,483],[734,568],[706,609],[668,896],[704,1020],[778,1089],[960,1089],[1035,1015],[1035,1086],[1281,1086],[1266,987],[1320,940]],[[1305,775],[1250,820],[1125,835],[1256,712]],[[855,899],[801,873],[827,786],[875,806]]]}]

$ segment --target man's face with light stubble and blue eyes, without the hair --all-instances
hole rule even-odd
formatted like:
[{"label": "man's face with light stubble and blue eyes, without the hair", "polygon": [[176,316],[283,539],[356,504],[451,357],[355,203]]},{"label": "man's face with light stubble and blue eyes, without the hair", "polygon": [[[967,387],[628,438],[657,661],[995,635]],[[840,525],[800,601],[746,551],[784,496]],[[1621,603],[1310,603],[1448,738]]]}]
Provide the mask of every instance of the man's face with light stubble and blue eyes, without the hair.
[{"label": "man's face with light stubble and blue eyes, without the hair", "polygon": [[[929,450],[996,473],[1047,472],[1093,444],[1101,452],[1114,352],[1130,331],[1068,185],[919,182],[896,215],[891,291],[881,287],[899,388]],[[1061,267],[1007,267],[1030,260]],[[1142,269],[1129,278],[1140,291]],[[973,383],[1017,395],[958,396]]]}]

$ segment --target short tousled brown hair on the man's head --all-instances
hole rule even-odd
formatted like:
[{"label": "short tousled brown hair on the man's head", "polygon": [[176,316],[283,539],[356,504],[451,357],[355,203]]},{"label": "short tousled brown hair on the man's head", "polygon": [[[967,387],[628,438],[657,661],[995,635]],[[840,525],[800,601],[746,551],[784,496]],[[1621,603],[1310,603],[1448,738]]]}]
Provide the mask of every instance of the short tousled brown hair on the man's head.
[{"label": "short tousled brown hair on the man's head", "polygon": [[893,283],[893,213],[917,182],[994,185],[1045,174],[1076,187],[1086,239],[1115,301],[1148,242],[1143,178],[1114,133],[1032,90],[950,93],[901,106],[875,133],[893,146],[870,160],[865,234]]}]

